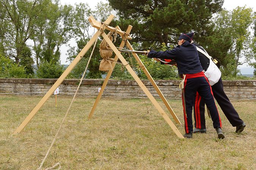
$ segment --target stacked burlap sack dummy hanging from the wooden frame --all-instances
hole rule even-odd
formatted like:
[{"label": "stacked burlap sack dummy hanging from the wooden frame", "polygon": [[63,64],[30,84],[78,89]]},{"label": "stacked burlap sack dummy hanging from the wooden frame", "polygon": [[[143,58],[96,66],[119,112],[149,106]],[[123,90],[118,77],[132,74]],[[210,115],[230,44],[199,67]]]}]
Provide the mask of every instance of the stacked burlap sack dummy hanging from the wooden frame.
[{"label": "stacked burlap sack dummy hanging from the wooden frame", "polygon": [[[113,41],[114,36],[114,42],[116,41],[116,33],[114,32],[108,32],[108,38]],[[106,42],[105,39],[102,40],[100,44],[100,50],[99,50],[101,57],[103,58],[101,60],[99,70],[101,71],[108,71],[112,69],[112,62],[115,61],[114,59],[110,58],[113,54],[113,50],[110,48],[108,43]]]}]

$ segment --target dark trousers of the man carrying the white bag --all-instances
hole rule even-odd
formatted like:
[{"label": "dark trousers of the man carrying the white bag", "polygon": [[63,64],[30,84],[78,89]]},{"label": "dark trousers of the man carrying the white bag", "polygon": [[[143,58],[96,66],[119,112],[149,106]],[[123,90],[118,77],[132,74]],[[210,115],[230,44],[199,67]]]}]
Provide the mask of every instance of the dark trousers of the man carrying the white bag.
[{"label": "dark trousers of the man carrying the white bag", "polygon": [[[212,85],[212,92],[214,94],[214,98],[217,100],[221,110],[227,117],[228,121],[233,127],[241,125],[243,123],[242,119],[240,119],[237,111],[231,104],[228,99],[228,96],[224,92],[223,83],[220,80]],[[195,105],[194,105],[194,119],[195,119],[195,127],[199,129],[206,128],[205,126],[205,117],[204,117],[204,100],[196,93]]]}]

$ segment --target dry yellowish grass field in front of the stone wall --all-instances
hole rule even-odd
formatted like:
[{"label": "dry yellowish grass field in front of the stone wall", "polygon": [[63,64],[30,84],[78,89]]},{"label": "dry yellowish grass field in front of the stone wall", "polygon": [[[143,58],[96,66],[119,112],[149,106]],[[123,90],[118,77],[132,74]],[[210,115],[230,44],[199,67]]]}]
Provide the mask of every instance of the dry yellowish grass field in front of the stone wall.
[{"label": "dry yellowish grass field in front of the stone wall", "polygon": [[[50,97],[24,131],[12,135],[41,98],[0,96],[1,170],[36,169],[46,155],[72,97],[58,97],[57,108]],[[241,134],[234,133],[219,108],[223,140],[217,139],[208,117],[206,134],[177,138],[149,100],[147,113],[142,99],[103,98],[88,120],[94,101],[75,99],[44,168],[60,162],[62,169],[256,169],[256,100],[232,101],[247,124]],[[169,103],[182,122],[175,125],[183,134],[182,102]]]}]

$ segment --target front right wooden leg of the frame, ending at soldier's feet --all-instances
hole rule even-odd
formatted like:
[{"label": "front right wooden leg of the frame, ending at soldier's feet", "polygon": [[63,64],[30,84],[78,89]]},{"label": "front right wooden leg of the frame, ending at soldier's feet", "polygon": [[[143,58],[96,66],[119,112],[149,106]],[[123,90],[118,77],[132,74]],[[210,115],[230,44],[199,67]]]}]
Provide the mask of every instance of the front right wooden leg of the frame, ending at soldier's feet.
[{"label": "front right wooden leg of the frame, ending at soldier's feet", "polygon": [[171,119],[168,117],[168,115],[165,113],[165,111],[161,108],[159,103],[155,100],[155,98],[152,96],[152,94],[148,91],[148,89],[145,87],[145,85],[141,82],[140,78],[137,76],[137,74],[132,70],[130,65],[127,63],[127,61],[124,59],[124,57],[121,55],[121,53],[116,49],[115,45],[112,43],[112,41],[108,38],[107,34],[105,32],[102,33],[102,36],[110,45],[110,47],[113,49],[113,51],[116,53],[118,58],[121,60],[121,62],[126,66],[126,69],[129,71],[129,73],[132,75],[132,77],[135,79],[135,81],[138,83],[140,88],[144,91],[144,93],[148,96],[149,100],[152,102],[152,104],[157,108],[159,113],[163,116],[165,121],[168,123],[168,125],[172,128],[174,133],[179,137],[179,138],[184,138],[181,132],[177,129],[177,127],[173,124]]}]

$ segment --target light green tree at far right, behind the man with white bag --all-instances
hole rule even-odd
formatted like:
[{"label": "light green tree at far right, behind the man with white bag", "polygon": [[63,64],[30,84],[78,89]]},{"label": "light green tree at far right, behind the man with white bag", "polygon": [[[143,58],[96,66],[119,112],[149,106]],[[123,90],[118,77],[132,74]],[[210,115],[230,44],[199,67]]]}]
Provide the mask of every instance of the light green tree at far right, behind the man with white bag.
[{"label": "light green tree at far right, behind the man with white bag", "polygon": [[221,60],[224,75],[236,76],[237,67],[253,59],[250,25],[253,23],[251,8],[237,7],[221,11],[214,20],[212,36],[207,37],[207,51]]}]

